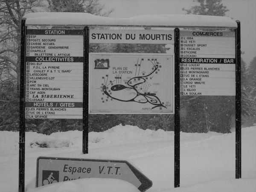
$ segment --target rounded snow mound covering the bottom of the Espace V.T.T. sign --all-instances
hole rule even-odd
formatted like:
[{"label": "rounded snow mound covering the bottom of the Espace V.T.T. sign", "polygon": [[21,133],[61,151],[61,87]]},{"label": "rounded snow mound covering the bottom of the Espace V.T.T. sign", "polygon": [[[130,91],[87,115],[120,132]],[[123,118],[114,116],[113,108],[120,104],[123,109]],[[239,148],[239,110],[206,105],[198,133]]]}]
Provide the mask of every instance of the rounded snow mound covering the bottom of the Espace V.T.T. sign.
[{"label": "rounded snow mound covering the bottom of the Espace V.T.T. sign", "polygon": [[[33,180],[35,183],[35,180]],[[124,180],[106,178],[85,178],[53,183],[26,192],[140,192],[134,185]]]}]

